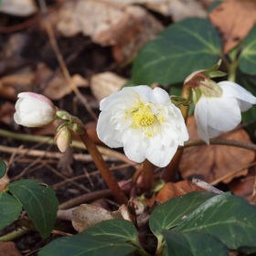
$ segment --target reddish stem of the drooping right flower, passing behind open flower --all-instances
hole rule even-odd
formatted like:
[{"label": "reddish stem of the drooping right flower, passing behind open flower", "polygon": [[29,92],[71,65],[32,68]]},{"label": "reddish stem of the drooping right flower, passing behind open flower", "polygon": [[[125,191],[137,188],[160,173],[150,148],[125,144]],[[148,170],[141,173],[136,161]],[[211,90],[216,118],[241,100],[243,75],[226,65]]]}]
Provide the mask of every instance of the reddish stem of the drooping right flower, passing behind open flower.
[{"label": "reddish stem of the drooping right flower, passing behind open flower", "polygon": [[[190,94],[191,94],[191,87],[184,85],[181,91],[181,97],[186,99],[187,101],[190,101]],[[179,106],[180,112],[185,120],[185,123],[187,122],[188,108],[189,106],[185,106],[183,104],[180,104]],[[163,176],[165,182],[174,181],[176,177],[177,168],[181,160],[182,153],[183,153],[183,148],[181,147],[179,150],[177,150],[176,155],[174,155],[170,164],[166,166],[165,173]]]}]

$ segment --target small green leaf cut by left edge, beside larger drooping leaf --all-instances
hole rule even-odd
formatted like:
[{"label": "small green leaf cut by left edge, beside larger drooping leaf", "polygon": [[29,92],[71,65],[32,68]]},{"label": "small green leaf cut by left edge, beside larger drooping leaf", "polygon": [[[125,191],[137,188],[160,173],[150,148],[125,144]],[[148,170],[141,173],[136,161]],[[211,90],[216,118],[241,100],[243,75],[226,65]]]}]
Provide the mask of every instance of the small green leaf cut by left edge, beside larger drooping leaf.
[{"label": "small green leaf cut by left edge, beside larger drooping leaf", "polygon": [[16,198],[5,192],[0,193],[0,208],[0,229],[4,229],[7,225],[13,223],[22,210]]}]

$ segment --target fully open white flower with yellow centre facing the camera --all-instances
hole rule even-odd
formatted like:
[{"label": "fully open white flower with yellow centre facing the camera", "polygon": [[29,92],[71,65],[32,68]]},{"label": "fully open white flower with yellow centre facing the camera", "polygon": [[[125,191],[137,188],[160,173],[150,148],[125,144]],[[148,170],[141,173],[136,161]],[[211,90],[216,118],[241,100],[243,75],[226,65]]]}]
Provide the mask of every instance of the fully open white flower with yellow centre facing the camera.
[{"label": "fully open white flower with yellow centre facing the camera", "polygon": [[166,91],[140,85],[123,88],[101,101],[97,133],[110,147],[122,147],[125,155],[141,163],[147,158],[164,167],[188,140],[180,110]]}]

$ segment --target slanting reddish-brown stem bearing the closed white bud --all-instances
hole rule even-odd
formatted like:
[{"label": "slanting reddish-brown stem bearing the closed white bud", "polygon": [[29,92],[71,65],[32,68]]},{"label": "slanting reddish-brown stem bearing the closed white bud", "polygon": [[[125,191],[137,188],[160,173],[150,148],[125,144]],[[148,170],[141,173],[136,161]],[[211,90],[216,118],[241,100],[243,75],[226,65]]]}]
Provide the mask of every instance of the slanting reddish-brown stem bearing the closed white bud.
[{"label": "slanting reddish-brown stem bearing the closed white bud", "polygon": [[87,147],[87,150],[91,154],[91,157],[95,163],[95,165],[98,167],[99,171],[101,172],[101,176],[112,190],[112,194],[114,197],[116,197],[117,201],[120,204],[127,204],[128,199],[124,195],[123,190],[119,185],[117,184],[117,181],[115,177],[112,175],[112,172],[110,171],[108,165],[103,160],[101,153],[99,152],[96,145],[92,142],[89,134],[84,130],[84,134],[80,135],[81,141],[85,144]]}]

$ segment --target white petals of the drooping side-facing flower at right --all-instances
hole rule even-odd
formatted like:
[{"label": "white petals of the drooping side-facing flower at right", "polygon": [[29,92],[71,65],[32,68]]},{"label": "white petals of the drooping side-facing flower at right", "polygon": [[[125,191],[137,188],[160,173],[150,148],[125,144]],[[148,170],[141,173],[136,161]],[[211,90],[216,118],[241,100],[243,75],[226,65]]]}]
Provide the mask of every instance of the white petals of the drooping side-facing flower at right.
[{"label": "white petals of the drooping side-facing flower at right", "polygon": [[222,131],[234,129],[241,121],[240,112],[256,104],[251,92],[235,82],[221,81],[217,86],[222,90],[221,96],[207,97],[202,91],[195,109],[197,133],[207,144],[208,136],[216,137]]}]

